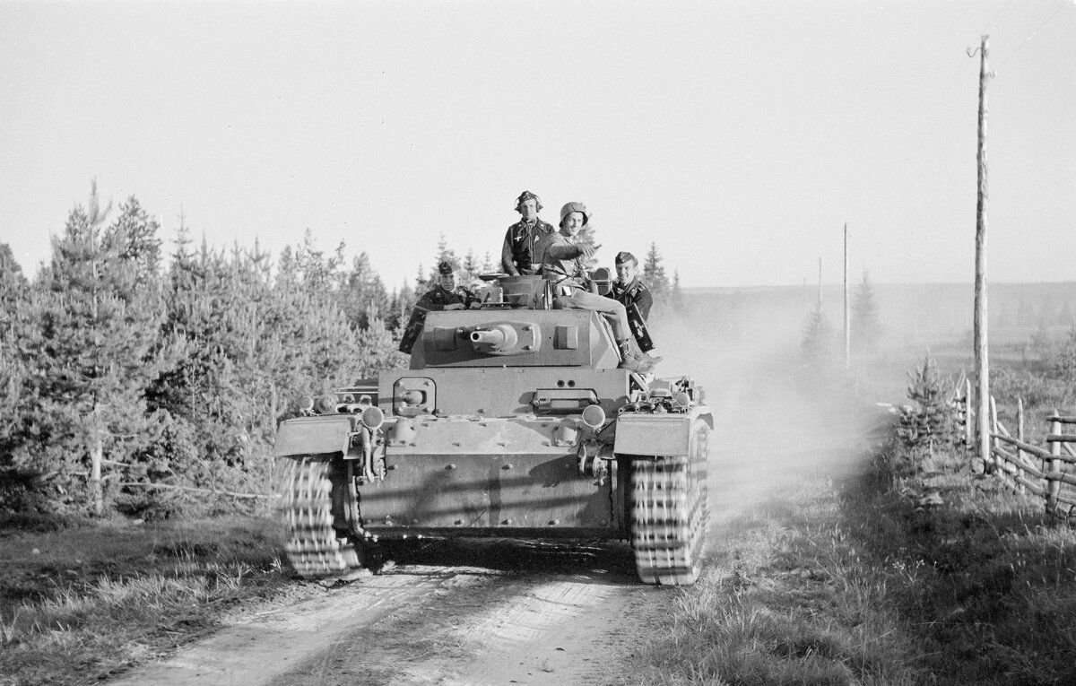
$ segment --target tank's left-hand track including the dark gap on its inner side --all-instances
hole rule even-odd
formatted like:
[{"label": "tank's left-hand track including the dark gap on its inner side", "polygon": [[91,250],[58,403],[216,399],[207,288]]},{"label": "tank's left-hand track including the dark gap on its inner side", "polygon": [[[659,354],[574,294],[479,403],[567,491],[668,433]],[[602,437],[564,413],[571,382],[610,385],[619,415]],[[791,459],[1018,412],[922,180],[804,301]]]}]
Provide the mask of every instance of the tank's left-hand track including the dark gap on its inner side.
[{"label": "tank's left-hand track including the dark gap on its inner side", "polygon": [[352,462],[318,456],[291,460],[285,476],[287,559],[303,578],[350,580],[363,568]]}]

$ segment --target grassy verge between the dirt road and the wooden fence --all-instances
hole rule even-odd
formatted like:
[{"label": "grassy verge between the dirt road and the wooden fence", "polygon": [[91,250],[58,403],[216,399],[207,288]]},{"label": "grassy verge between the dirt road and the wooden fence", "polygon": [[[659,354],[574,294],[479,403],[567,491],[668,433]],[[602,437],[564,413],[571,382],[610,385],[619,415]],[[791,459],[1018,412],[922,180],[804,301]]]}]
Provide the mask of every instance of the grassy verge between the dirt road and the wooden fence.
[{"label": "grassy verge between the dirt road and the wooden fence", "polygon": [[726,527],[632,683],[1076,683],[1076,534],[895,442]]}]

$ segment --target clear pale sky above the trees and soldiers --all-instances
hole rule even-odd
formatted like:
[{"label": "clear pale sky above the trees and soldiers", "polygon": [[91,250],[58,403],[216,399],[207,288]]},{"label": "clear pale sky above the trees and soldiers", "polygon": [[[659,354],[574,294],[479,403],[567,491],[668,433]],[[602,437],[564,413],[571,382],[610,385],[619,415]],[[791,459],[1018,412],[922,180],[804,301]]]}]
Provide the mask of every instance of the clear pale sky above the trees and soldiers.
[{"label": "clear pale sky above the trees and soldiers", "polygon": [[0,241],[34,272],[90,180],[171,241],[310,228],[390,287],[496,257],[537,192],[693,286],[969,282],[990,35],[992,281],[1072,281],[1076,2],[0,0]]}]

